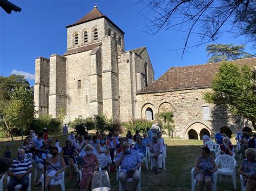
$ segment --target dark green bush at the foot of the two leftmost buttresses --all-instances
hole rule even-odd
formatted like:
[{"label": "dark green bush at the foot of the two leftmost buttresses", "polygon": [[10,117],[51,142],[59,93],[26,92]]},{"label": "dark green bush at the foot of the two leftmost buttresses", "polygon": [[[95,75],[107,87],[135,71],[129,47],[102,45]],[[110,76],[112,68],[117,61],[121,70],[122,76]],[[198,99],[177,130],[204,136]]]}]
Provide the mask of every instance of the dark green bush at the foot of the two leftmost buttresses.
[{"label": "dark green bush at the foot of the two leftmost buttresses", "polygon": [[30,124],[30,130],[35,133],[43,132],[44,128],[47,128],[50,133],[60,132],[61,123],[58,118],[51,118],[51,116],[43,114],[33,119]]}]

